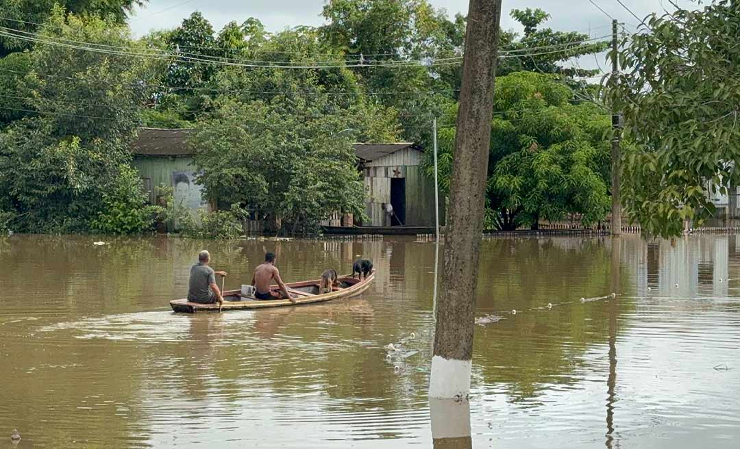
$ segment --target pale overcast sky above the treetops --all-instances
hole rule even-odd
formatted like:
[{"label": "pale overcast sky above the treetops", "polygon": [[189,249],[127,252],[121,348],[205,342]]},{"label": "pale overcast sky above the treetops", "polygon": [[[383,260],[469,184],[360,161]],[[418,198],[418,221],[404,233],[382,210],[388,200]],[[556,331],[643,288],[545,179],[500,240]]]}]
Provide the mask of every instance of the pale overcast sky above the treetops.
[{"label": "pale overcast sky above the treetops", "polygon": [[[616,0],[593,0],[606,13],[619,21],[637,24],[638,21]],[[670,7],[667,0],[622,0],[636,16],[643,18],[649,13],[662,11],[662,5]],[[679,0],[682,6],[689,6],[691,0]],[[324,0],[149,0],[146,7],[136,11],[131,19],[131,27],[136,36],[149,30],[176,27],[183,18],[193,11],[200,11],[211,21],[215,30],[235,20],[244,21],[256,17],[270,31],[283,30],[299,24],[320,25]],[[451,16],[467,13],[467,0],[431,0],[435,7],[445,8]],[[540,7],[551,14],[549,26],[555,30],[592,30],[601,36],[610,25],[610,19],[596,9],[589,0],[504,0],[502,27],[517,28],[508,13],[513,8]]]}]

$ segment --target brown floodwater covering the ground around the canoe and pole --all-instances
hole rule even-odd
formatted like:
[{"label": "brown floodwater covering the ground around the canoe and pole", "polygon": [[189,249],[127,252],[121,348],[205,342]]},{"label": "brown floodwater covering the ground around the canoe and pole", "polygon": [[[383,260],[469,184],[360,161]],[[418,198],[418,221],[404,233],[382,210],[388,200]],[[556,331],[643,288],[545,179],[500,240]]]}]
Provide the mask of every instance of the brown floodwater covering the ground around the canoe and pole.
[{"label": "brown floodwater covering the ground around the canoe and pole", "polygon": [[[736,236],[486,240],[471,439],[436,443],[434,243],[95,240],[0,239],[0,448],[740,444]],[[378,273],[354,300],[172,314],[203,248],[226,288],[265,250],[286,280]]]}]

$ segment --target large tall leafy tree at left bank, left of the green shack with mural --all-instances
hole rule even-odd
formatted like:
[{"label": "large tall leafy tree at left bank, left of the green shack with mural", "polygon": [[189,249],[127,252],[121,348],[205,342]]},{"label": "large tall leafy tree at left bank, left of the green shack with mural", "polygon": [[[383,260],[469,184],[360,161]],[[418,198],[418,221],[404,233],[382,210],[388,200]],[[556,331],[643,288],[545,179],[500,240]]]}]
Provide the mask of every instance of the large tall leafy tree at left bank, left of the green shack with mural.
[{"label": "large tall leafy tree at left bank, left of the green shack with mural", "polygon": [[[67,16],[61,8],[39,33],[134,51],[126,28],[95,16]],[[14,212],[16,229],[23,231],[90,229],[101,212],[110,212],[106,203],[133,205],[141,198],[141,192],[133,199],[115,194],[137,192],[122,183],[138,186],[126,169],[148,67],[124,55],[47,44],[34,47],[29,58],[17,92],[33,113],[0,132],[0,209]]]}]

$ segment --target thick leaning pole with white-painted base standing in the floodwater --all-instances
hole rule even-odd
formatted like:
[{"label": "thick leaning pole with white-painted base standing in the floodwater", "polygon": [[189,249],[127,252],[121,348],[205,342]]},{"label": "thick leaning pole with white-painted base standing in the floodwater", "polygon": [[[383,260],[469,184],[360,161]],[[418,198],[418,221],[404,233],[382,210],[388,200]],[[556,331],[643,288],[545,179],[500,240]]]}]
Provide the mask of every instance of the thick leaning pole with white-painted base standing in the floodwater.
[{"label": "thick leaning pole with white-painted base standing in the floodwater", "polygon": [[500,20],[500,0],[470,0],[430,399],[467,398],[470,392]]}]

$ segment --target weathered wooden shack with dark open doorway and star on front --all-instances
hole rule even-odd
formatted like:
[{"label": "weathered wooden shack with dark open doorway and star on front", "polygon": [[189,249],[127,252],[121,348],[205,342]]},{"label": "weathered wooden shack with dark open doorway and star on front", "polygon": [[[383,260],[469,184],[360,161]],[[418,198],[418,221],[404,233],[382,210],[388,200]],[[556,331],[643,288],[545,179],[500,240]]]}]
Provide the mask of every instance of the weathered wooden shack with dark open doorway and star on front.
[{"label": "weathered wooden shack with dark open doorway and star on front", "polygon": [[[411,143],[355,144],[367,198],[363,226],[434,226],[434,181],[423,173],[423,150]],[[390,203],[396,217],[383,204]],[[440,198],[440,223],[444,223]]]}]

